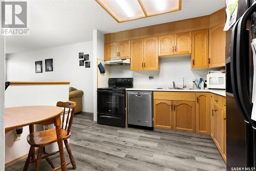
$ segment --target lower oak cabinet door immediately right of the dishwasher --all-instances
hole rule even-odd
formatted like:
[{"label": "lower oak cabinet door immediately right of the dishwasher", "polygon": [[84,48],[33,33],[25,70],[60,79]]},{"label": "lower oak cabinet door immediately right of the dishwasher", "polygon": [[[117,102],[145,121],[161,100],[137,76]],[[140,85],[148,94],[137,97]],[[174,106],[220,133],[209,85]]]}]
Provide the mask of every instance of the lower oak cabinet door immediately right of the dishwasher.
[{"label": "lower oak cabinet door immediately right of the dishwasher", "polygon": [[173,129],[173,101],[154,100],[154,127]]}]

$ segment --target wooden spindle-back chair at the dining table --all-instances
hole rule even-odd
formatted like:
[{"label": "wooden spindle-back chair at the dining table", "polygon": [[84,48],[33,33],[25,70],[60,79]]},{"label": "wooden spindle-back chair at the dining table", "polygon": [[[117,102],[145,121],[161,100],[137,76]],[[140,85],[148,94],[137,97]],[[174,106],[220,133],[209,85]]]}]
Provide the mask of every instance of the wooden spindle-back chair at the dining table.
[{"label": "wooden spindle-back chair at the dining table", "polygon": [[[73,169],[75,169],[76,168],[76,163],[75,163],[75,160],[72,156],[68,139],[71,136],[70,130],[71,130],[72,122],[73,122],[73,116],[74,116],[74,112],[75,112],[75,108],[76,108],[76,102],[73,102],[73,101],[61,102],[61,101],[59,101],[59,102],[57,102],[57,106],[64,108],[63,116],[62,116],[61,131],[62,131],[62,138],[63,138],[63,141],[65,143],[65,146],[66,146],[66,149],[68,151],[69,158],[70,158],[70,162],[66,162],[66,165],[69,165],[71,163],[72,166],[73,166]],[[67,114],[66,125],[65,125],[65,116],[66,116],[65,111],[66,111],[66,108],[69,109],[69,111],[68,111],[68,114]],[[64,125],[65,125],[65,127],[64,127]],[[45,155],[45,156],[41,157],[42,148],[44,146],[50,145],[54,142],[57,142],[57,136],[56,136],[55,128],[50,129],[50,130],[46,130],[46,131],[39,131],[39,132],[31,133],[27,136],[27,141],[30,144],[30,149],[29,149],[28,158],[27,158],[26,163],[24,165],[24,169],[23,169],[24,171],[26,171],[28,169],[29,164],[33,163],[33,162],[36,162],[35,170],[36,171],[39,170],[39,165],[40,165],[41,159],[46,159],[46,161],[48,161],[48,163],[51,165],[53,170],[58,170],[58,169],[61,168],[61,166],[56,167],[55,164],[52,163],[52,161],[49,160],[49,156],[55,155],[59,151],[53,152],[51,154],[48,154],[48,155]],[[34,157],[35,147],[39,147],[36,159]],[[60,156],[60,157],[63,157],[63,156]]]}]

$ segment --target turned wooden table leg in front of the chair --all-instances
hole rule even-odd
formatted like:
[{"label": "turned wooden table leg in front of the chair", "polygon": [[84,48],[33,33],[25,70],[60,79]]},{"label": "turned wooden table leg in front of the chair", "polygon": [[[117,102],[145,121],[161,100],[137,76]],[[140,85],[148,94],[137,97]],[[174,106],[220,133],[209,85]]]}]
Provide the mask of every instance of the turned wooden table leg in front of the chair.
[{"label": "turned wooden table leg in front of the chair", "polygon": [[54,125],[56,127],[56,134],[57,134],[57,143],[59,146],[59,155],[60,155],[60,165],[61,165],[61,170],[66,171],[66,162],[65,162],[65,155],[63,151],[63,140],[62,140],[62,131],[61,131],[61,119],[60,115],[55,118]]}]

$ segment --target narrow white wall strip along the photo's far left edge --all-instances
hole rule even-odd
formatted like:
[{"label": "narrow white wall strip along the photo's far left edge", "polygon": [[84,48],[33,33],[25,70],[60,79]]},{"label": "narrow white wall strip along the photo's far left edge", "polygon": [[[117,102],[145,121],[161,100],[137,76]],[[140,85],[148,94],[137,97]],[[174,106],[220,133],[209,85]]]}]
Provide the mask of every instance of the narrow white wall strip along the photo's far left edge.
[{"label": "narrow white wall strip along the photo's far left edge", "polygon": [[[1,7],[1,5],[0,5]],[[5,170],[5,37],[0,36],[0,170]]]}]

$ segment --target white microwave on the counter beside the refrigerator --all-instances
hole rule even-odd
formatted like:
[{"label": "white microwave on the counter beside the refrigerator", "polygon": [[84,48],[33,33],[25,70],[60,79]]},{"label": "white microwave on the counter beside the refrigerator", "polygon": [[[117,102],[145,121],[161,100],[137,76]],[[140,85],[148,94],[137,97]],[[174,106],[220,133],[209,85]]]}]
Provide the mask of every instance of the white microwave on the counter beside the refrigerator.
[{"label": "white microwave on the counter beside the refrigerator", "polygon": [[226,89],[225,73],[207,74],[207,88],[208,89]]}]

